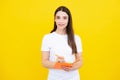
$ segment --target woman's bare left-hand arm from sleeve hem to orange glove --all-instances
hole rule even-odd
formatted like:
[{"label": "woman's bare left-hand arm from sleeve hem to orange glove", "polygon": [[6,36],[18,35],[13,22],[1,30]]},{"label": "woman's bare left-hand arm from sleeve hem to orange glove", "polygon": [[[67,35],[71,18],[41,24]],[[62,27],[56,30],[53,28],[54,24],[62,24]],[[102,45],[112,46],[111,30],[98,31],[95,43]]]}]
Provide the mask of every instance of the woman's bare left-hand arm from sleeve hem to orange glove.
[{"label": "woman's bare left-hand arm from sleeve hem to orange glove", "polygon": [[49,61],[50,53],[49,51],[42,51],[42,65],[46,68],[53,68],[55,62]]}]

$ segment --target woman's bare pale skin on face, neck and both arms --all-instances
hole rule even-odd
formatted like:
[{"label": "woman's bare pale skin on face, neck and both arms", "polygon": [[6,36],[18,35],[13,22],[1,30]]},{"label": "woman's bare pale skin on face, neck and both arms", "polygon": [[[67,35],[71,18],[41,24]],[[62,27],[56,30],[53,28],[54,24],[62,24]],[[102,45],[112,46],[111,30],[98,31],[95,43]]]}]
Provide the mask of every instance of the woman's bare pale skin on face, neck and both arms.
[{"label": "woman's bare pale skin on face, neck and both arms", "polygon": [[[68,15],[65,12],[58,11],[55,16],[55,22],[57,25],[57,29],[55,32],[61,35],[65,35],[66,26],[68,24]],[[80,68],[83,63],[81,54],[82,54],[81,52],[78,52],[76,54],[77,62],[73,63],[71,68],[63,66],[62,69],[65,71],[71,71]],[[49,51],[42,51],[42,65],[46,68],[53,68],[56,62],[49,61],[49,57],[50,57]]]}]

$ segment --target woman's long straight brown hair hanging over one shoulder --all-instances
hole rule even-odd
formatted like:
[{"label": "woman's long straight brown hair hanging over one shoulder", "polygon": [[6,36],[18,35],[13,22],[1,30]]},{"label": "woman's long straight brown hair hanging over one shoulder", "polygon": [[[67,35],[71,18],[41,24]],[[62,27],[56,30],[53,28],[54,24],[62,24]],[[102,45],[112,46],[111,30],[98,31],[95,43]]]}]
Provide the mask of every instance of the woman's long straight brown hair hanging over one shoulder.
[{"label": "woman's long straight brown hair hanging over one shoulder", "polygon": [[[68,15],[68,25],[66,27],[66,33],[68,35],[68,45],[72,48],[72,53],[77,53],[77,48],[76,48],[75,38],[74,38],[74,30],[72,27],[72,16],[71,16],[70,10],[65,6],[60,6],[56,9],[54,13],[54,17],[56,16],[56,13],[58,11],[66,12]],[[50,33],[56,31],[56,29],[57,29],[57,25],[56,25],[56,22],[54,21],[54,28]]]}]

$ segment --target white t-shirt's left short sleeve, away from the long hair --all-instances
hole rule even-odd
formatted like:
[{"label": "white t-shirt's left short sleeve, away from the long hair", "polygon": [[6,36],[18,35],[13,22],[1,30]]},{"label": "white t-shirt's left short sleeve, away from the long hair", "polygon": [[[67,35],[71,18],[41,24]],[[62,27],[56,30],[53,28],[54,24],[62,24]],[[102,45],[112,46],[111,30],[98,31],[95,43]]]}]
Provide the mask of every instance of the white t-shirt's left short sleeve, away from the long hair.
[{"label": "white t-shirt's left short sleeve, away from the long hair", "polygon": [[41,46],[41,51],[49,51],[49,39],[48,36],[45,35],[42,39],[42,46]]}]

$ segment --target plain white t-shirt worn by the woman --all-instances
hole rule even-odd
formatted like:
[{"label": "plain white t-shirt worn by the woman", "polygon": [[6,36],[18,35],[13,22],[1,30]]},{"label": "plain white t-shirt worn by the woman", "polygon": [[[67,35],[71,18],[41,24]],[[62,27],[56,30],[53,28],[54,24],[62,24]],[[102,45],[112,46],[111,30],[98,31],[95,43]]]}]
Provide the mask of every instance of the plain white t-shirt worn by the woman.
[{"label": "plain white t-shirt worn by the woman", "polygon": [[[75,35],[75,43],[78,52],[82,52],[81,39]],[[56,55],[63,56],[65,62],[72,63],[75,56],[72,55],[72,49],[68,45],[67,35],[60,35],[56,32],[46,34],[42,40],[41,51],[50,51],[50,61],[56,62]],[[49,69],[48,80],[80,80],[78,70],[64,71],[58,69]]]}]

